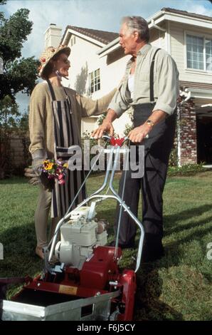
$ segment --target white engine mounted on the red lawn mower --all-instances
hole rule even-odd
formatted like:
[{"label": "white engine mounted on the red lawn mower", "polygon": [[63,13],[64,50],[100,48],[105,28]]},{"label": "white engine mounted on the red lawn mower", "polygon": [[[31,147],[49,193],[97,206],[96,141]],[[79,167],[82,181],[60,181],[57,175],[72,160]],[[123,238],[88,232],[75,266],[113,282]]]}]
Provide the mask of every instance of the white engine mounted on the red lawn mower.
[{"label": "white engine mounted on the red lawn mower", "polygon": [[61,263],[82,269],[83,263],[93,254],[93,248],[107,244],[105,222],[96,222],[95,207],[82,206],[71,212],[70,220],[60,227],[60,242],[55,257]]}]

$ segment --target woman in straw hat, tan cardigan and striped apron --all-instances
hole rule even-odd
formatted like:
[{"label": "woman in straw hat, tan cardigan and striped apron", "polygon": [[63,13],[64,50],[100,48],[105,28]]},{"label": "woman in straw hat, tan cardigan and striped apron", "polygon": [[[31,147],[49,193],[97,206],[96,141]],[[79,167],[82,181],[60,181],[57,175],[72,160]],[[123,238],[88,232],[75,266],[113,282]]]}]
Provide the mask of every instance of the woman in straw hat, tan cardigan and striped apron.
[{"label": "woman in straw hat, tan cardigan and striped apron", "polygon": [[[80,96],[70,88],[63,87],[62,77],[68,76],[70,68],[70,48],[59,46],[48,47],[40,58],[39,75],[45,79],[34,88],[30,100],[29,130],[30,152],[33,158],[33,170],[41,177],[40,194],[35,212],[35,226],[37,247],[36,254],[42,259],[43,247],[48,245],[47,225],[51,207],[51,237],[60,217],[68,210],[70,203],[82,185],[83,171],[68,170],[65,184],[54,185],[48,183],[41,172],[43,160],[58,159],[60,153],[65,152],[63,160],[68,160],[68,150],[71,145],[80,145],[81,118],[89,115],[98,115],[107,110],[115,90],[99,100],[91,100]],[[61,150],[62,148],[62,150]],[[52,188],[53,186],[53,188]],[[51,189],[52,188],[52,189]],[[78,195],[73,207],[78,205],[85,196],[85,189]]]}]

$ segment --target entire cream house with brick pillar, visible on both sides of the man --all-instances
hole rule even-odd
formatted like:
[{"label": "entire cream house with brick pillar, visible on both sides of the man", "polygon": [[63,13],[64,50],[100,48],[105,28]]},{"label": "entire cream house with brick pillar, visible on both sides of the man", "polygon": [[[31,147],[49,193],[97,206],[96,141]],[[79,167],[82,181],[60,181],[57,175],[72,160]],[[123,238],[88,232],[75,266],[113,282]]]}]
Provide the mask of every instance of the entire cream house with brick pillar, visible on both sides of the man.
[{"label": "entire cream house with brick pillar, visible on both sides of the man", "polygon": [[[177,117],[179,165],[211,163],[212,17],[163,8],[147,21],[150,43],[168,51],[179,69],[184,99]],[[60,41],[72,50],[71,88],[99,98],[120,83],[129,56],[124,56],[117,33],[67,26]],[[124,113],[115,121],[115,131],[123,133],[130,122],[130,112]],[[97,118],[88,118],[83,132],[96,126]]]}]

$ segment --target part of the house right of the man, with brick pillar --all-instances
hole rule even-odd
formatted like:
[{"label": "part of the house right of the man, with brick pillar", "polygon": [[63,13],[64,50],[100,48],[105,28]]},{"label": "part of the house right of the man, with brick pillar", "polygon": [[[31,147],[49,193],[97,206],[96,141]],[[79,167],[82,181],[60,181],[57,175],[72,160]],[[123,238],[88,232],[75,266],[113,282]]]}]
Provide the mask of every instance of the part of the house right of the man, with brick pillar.
[{"label": "part of the house right of the man, with brick pillar", "polygon": [[186,103],[178,113],[179,164],[212,162],[212,17],[163,8],[148,20],[151,43],[176,61]]}]

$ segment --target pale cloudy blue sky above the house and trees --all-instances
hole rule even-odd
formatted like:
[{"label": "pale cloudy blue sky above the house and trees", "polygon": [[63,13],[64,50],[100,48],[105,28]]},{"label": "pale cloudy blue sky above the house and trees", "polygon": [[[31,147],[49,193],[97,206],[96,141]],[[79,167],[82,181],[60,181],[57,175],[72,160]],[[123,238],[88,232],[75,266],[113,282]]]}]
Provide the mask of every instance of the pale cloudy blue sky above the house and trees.
[{"label": "pale cloudy blue sky above the house and trees", "polygon": [[[163,7],[212,16],[212,4],[208,0],[7,0],[0,11],[9,17],[17,9],[30,10],[33,29],[23,44],[22,56],[38,58],[44,48],[43,33],[49,24],[60,26],[62,33],[68,25],[118,33],[122,16],[148,19]],[[27,97],[19,95],[17,100],[22,109],[27,108]]]}]

